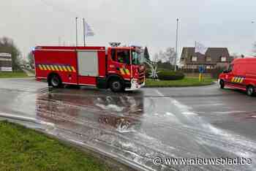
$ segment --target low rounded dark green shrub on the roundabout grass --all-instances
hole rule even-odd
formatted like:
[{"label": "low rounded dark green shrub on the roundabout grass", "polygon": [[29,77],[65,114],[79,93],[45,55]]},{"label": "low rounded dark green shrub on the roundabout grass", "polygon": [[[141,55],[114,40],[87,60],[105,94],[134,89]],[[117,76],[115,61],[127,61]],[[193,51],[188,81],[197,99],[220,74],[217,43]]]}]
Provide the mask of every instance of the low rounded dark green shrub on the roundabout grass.
[{"label": "low rounded dark green shrub on the roundabout grass", "polygon": [[159,80],[182,80],[185,75],[182,72],[172,72],[172,71],[160,71],[158,73]]}]

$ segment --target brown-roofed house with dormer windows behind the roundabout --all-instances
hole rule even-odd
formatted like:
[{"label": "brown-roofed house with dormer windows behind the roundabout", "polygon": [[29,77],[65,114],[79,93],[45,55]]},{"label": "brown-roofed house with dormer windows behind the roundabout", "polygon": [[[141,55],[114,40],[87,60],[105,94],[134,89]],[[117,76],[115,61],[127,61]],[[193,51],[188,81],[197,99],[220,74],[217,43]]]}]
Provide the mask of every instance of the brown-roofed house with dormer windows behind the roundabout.
[{"label": "brown-roofed house with dormer windows behind the roundabout", "polygon": [[225,67],[233,61],[226,47],[208,47],[206,54],[195,53],[195,47],[183,47],[181,53],[181,69],[198,69],[205,66],[206,69]]}]

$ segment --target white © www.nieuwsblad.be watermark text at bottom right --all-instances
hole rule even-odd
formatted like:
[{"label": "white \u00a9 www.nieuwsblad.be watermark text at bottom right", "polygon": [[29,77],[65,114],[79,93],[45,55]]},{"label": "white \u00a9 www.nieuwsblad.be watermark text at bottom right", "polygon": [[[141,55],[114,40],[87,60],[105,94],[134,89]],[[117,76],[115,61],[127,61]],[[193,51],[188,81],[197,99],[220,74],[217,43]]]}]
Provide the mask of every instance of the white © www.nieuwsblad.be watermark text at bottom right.
[{"label": "white \u00a9 www.nieuwsblad.be watermark text at bottom right", "polygon": [[155,157],[153,159],[153,163],[157,166],[161,164],[165,165],[246,165],[252,164],[252,159],[244,158],[244,157],[236,157],[236,158],[165,158]]}]

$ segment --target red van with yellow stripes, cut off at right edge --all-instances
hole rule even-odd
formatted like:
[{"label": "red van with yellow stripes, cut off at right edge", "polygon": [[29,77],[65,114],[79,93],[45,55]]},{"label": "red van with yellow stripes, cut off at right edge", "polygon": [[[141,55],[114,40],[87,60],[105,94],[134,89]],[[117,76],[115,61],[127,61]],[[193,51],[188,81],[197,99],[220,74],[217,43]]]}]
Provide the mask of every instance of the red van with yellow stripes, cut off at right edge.
[{"label": "red van with yellow stripes, cut off at right edge", "polygon": [[237,58],[219,75],[219,86],[238,88],[252,96],[256,88],[256,58]]}]

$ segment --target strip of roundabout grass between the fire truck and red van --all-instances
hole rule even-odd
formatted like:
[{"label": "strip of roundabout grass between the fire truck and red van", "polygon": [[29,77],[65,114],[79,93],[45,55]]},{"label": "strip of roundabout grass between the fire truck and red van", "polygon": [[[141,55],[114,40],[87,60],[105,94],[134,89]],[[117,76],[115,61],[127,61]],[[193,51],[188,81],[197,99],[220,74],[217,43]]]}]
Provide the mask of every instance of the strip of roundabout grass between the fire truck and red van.
[{"label": "strip of roundabout grass between the fire truck and red van", "polygon": [[187,86],[206,86],[214,83],[214,79],[205,77],[202,82],[198,77],[185,77],[183,80],[152,80],[146,79],[146,87],[187,87]]}]

